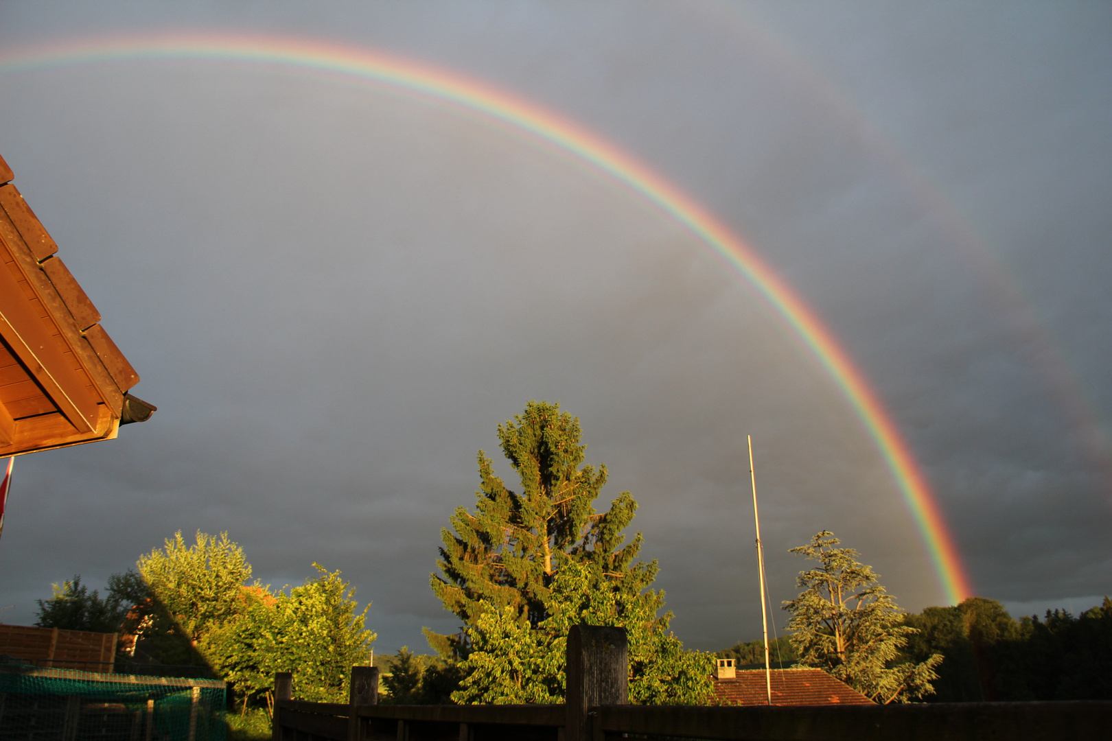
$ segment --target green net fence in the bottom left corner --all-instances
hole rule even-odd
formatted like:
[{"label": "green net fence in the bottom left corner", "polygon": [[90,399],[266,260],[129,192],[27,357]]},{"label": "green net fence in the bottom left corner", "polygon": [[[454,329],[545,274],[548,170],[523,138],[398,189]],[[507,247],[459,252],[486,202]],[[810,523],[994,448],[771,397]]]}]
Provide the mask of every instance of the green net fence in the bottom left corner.
[{"label": "green net fence in the bottom left corner", "polygon": [[0,741],[225,741],[225,683],[0,665]]}]

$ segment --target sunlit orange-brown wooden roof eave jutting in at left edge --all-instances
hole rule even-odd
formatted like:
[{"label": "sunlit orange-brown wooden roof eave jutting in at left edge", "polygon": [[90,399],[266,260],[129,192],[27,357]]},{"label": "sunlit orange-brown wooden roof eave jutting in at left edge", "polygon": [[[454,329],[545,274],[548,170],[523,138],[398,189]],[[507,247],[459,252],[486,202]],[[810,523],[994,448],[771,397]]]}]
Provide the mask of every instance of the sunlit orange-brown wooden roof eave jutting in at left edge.
[{"label": "sunlit orange-brown wooden roof eave jutting in at left edge", "polygon": [[0,457],[116,437],[155,407],[0,158]]}]

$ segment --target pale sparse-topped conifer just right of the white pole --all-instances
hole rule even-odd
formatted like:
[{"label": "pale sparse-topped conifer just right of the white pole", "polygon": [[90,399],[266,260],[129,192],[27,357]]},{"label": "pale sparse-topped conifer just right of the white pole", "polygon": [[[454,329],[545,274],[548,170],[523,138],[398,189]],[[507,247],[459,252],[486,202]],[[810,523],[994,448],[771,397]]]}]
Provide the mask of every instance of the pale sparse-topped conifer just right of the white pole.
[{"label": "pale sparse-topped conifer just right of the white pole", "polygon": [[916,630],[903,623],[895,600],[877,582],[872,567],[858,563],[857,551],[835,548],[833,533],[822,531],[791,552],[817,561],[801,571],[800,595],[784,603],[792,613],[788,630],[800,663],[818,667],[874,702],[910,702],[931,694],[941,654],[919,663],[901,650]]}]

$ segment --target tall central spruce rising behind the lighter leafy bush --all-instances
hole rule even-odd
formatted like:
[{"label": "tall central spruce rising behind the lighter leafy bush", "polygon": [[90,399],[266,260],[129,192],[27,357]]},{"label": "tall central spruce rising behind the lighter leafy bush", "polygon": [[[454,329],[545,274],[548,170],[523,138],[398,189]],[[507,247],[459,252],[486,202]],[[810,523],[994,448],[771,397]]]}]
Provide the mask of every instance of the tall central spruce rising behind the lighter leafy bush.
[{"label": "tall central spruce rising behind the lighter leafy bush", "polygon": [[[627,595],[653,583],[656,561],[633,562],[641,533],[623,547],[622,531],[637,503],[624,491],[607,512],[595,513],[606,467],[583,465],[586,445],[579,435],[578,419],[543,401],[530,401],[524,413],[499,424],[519,492],[506,488],[479,451],[476,513],[460,507],[450,519],[454,531],[441,530],[437,565],[444,575],[431,575],[433,592],[465,625],[475,625],[489,604],[513,608],[536,628],[548,617],[545,600],[557,571],[572,560],[597,564],[609,588]],[[441,655],[467,651],[458,634],[425,632]]]}]

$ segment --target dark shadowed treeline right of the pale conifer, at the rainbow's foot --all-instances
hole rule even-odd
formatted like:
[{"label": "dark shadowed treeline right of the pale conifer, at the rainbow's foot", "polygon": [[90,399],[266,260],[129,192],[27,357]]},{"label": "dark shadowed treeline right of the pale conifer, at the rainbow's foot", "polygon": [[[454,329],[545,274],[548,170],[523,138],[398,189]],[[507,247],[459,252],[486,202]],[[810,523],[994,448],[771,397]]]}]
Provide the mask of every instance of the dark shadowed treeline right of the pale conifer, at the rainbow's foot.
[{"label": "dark shadowed treeline right of the pale conifer, at the rainbow's foot", "polygon": [[905,653],[945,659],[927,702],[1112,700],[1112,600],[1074,618],[1064,610],[1013,619],[995,600],[909,614]]}]

